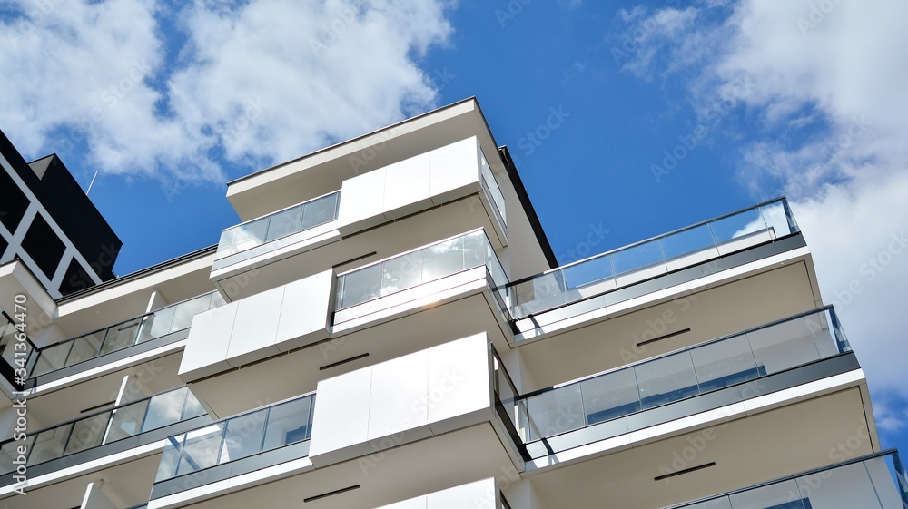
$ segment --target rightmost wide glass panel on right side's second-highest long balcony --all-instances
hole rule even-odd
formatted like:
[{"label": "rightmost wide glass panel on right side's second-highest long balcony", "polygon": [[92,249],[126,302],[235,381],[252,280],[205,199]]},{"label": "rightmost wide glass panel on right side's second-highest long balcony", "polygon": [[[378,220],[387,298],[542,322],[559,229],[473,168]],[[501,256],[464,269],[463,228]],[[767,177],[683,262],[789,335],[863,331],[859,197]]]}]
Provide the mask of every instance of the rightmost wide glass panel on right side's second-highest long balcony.
[{"label": "rightmost wide glass panel on right side's second-highest long balcony", "polygon": [[747,334],[756,365],[764,375],[801,366],[820,358],[803,319],[761,328]]}]

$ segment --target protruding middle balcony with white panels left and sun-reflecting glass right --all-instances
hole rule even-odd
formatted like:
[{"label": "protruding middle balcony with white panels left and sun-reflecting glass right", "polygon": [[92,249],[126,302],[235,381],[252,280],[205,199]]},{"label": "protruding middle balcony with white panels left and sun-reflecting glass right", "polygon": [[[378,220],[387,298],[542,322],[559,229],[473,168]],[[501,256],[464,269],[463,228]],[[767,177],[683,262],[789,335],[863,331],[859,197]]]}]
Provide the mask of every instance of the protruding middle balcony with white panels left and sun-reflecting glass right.
[{"label": "protruding middle balcony with white panels left and sun-reflecting glass right", "polygon": [[[213,416],[232,416],[450,338],[488,331],[508,348],[508,297],[498,293],[507,277],[492,248],[473,230],[213,309],[196,319],[179,376]],[[427,336],[429,328],[446,333]]]}]

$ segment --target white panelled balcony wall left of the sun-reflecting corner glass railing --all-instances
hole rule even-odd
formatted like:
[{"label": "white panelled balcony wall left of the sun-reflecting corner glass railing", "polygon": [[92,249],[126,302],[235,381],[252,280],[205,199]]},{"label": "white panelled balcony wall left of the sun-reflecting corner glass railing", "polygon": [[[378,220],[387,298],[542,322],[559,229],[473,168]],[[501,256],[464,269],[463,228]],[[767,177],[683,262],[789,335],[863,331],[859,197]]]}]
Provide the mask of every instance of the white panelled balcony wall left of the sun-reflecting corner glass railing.
[{"label": "white panelled balcony wall left of the sun-reflecting corner glass railing", "polygon": [[191,382],[330,337],[332,270],[192,319],[180,377]]}]

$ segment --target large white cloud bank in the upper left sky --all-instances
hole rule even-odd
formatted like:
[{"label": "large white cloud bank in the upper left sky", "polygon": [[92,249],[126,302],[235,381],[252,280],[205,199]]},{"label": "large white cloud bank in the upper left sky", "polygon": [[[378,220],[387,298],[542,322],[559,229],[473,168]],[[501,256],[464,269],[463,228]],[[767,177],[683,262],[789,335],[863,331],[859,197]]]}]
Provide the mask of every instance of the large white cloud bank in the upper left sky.
[{"label": "large white cloud bank in the upper left sky", "polygon": [[0,21],[0,125],[20,150],[74,147],[168,182],[222,181],[221,157],[252,171],[435,105],[418,59],[451,33],[440,0],[7,4],[22,15]]}]

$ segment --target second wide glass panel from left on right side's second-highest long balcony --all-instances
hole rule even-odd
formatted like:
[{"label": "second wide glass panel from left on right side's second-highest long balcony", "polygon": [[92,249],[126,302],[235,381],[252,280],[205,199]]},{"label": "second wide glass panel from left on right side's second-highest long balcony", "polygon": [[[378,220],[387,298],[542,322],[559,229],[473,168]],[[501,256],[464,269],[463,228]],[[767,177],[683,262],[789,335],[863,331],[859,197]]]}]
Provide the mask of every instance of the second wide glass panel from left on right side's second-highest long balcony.
[{"label": "second wide glass panel from left on right side's second-highest long balcony", "polygon": [[584,380],[580,382],[580,392],[583,408],[587,412],[587,426],[627,416],[640,409],[637,377],[633,369]]}]

